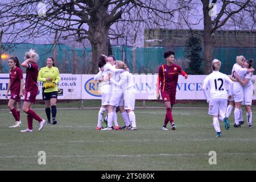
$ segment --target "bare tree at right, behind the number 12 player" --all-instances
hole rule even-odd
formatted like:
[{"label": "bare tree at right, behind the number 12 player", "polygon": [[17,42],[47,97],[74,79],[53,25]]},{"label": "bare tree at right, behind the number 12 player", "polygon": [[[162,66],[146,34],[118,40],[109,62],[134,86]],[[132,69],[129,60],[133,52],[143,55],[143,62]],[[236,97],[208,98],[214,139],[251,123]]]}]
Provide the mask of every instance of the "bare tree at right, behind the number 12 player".
[{"label": "bare tree at right, behind the number 12 player", "polygon": [[[187,3],[187,1],[181,0],[179,3]],[[204,42],[204,61],[205,61],[205,74],[211,72],[211,61],[213,60],[213,46],[216,43],[214,40],[214,32],[222,27],[225,27],[227,23],[233,23],[234,29],[245,27],[247,30],[255,29],[255,9],[256,2],[254,0],[246,1],[217,1],[217,0],[200,0],[192,1],[189,5],[190,11],[180,11],[184,17],[185,23],[192,30],[197,24],[200,24],[203,20],[203,42]],[[217,11],[216,6],[220,7]],[[198,13],[195,13],[195,9],[202,7],[203,16],[197,18],[198,21],[189,21],[189,17],[196,17]],[[193,31],[193,30],[192,30]]]}]

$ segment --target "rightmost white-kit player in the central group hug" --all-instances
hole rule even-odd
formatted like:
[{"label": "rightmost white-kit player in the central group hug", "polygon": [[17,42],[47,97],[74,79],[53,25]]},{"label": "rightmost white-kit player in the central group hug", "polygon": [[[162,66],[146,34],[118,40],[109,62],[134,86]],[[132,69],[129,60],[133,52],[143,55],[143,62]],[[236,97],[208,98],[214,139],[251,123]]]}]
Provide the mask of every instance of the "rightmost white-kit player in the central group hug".
[{"label": "rightmost white-kit player in the central group hug", "polygon": [[[115,68],[127,69],[127,65],[122,61],[117,61],[115,64]],[[120,81],[117,82],[113,78],[110,78],[110,82],[113,82],[116,85],[121,86],[123,91],[123,100],[125,101],[125,110],[128,114],[131,129],[137,130],[136,126],[136,118],[134,114],[134,106],[135,106],[135,84],[133,80],[133,75],[131,75],[130,71],[125,71],[120,73]]]}]

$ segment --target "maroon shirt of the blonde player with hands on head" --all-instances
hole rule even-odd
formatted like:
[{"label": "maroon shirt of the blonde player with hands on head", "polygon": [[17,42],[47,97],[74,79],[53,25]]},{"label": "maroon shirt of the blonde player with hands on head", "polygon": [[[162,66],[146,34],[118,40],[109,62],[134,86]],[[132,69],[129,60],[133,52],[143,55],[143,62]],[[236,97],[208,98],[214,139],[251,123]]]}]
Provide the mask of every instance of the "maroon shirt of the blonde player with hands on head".
[{"label": "maroon shirt of the blonde player with hands on head", "polygon": [[30,63],[26,69],[26,91],[34,90],[38,87],[38,64]]}]

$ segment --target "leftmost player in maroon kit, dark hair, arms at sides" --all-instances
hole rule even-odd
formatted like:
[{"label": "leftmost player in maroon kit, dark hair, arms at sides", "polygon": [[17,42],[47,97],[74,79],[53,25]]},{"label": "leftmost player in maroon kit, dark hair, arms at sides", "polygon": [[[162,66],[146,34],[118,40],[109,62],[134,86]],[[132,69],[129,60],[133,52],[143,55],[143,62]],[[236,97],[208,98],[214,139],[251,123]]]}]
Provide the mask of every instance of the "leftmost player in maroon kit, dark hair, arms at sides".
[{"label": "leftmost player in maroon kit, dark hair, arms at sides", "polygon": [[8,107],[13,113],[13,117],[15,118],[15,124],[10,127],[20,127],[20,111],[19,111],[19,101],[20,97],[23,96],[23,74],[20,69],[19,60],[17,57],[11,57],[8,61],[9,67],[11,68],[9,71],[10,80],[8,84],[8,88],[6,90],[5,97],[8,99],[8,93],[11,90],[11,97],[8,102]]}]

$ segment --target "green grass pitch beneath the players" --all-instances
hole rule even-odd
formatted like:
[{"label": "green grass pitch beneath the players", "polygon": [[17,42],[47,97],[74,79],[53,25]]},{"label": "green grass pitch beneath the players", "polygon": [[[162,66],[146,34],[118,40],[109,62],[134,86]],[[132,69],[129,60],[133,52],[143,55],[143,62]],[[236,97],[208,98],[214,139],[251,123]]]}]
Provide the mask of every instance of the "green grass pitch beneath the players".
[{"label": "green grass pitch beneath the players", "polygon": [[[46,118],[44,110],[36,113]],[[9,128],[13,115],[0,110],[0,170],[256,169],[254,123],[247,128],[245,121],[241,128],[232,125],[226,131],[221,122],[223,136],[216,138],[207,108],[174,107],[176,131],[162,130],[165,113],[165,109],[138,109],[137,131],[96,131],[98,110],[59,109],[57,125],[46,124],[38,131],[34,121],[33,133],[21,133],[27,128],[26,115],[21,114],[22,127]],[[123,126],[119,113],[118,121]],[[38,164],[39,151],[46,152],[46,165]],[[210,151],[216,151],[216,165],[208,162]]]}]

